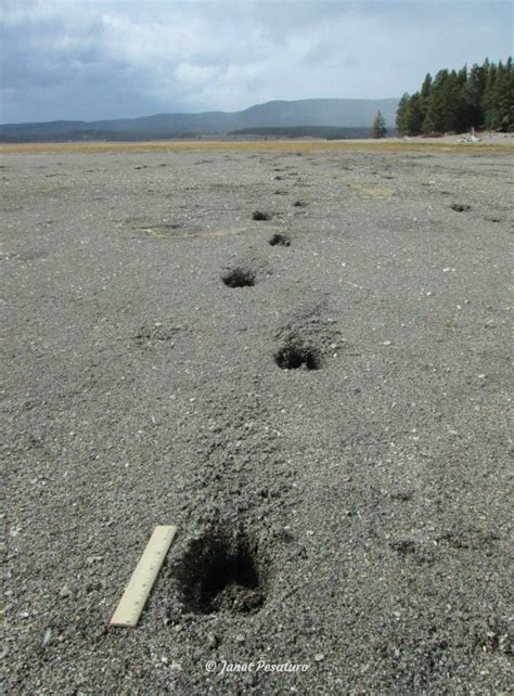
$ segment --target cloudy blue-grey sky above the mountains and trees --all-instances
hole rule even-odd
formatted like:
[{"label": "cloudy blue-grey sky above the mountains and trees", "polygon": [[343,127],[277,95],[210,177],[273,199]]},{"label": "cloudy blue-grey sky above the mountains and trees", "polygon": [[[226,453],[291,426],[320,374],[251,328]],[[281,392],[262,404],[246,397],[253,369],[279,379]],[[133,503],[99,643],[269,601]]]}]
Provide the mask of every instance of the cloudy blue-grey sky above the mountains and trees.
[{"label": "cloudy blue-grey sky above the mountains and trees", "polygon": [[399,98],[505,60],[512,1],[0,0],[0,123]]}]

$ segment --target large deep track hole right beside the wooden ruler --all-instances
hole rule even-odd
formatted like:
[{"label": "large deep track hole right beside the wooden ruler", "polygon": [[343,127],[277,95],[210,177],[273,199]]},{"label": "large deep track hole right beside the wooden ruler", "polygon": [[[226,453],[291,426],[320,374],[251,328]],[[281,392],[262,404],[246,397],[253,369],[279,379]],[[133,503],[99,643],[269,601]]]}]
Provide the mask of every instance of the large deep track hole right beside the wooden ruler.
[{"label": "large deep track hole right beside the wooden ruler", "polygon": [[196,540],[176,577],[184,606],[194,614],[256,614],[265,603],[257,544],[219,531]]}]

